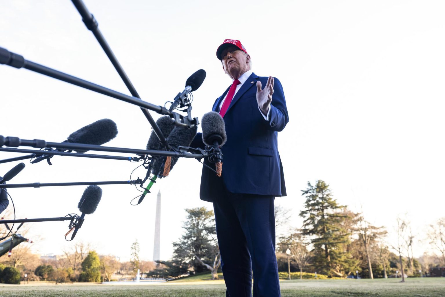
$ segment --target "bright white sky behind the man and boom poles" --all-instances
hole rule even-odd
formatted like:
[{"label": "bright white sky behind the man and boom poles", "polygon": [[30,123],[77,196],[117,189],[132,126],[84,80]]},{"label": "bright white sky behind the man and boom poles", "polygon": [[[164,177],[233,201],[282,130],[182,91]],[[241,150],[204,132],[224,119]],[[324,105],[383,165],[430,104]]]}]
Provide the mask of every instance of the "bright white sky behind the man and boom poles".
[{"label": "bright white sky behind the man and boom poles", "polygon": [[[99,28],[145,101],[163,105],[198,69],[194,92],[201,118],[230,85],[215,57],[224,39],[239,39],[261,76],[278,77],[290,122],[279,133],[288,196],[276,203],[299,212],[307,181],[323,179],[340,204],[363,207],[368,220],[393,233],[407,213],[417,238],[444,216],[443,127],[445,20],[443,1],[104,1],[87,0]],[[30,61],[129,94],[71,1],[3,1],[0,47]],[[0,66],[0,134],[61,142],[101,118],[117,123],[107,146],[144,148],[150,126],[139,107],[26,69]],[[158,115],[151,113],[154,118]],[[94,153],[94,152],[93,152]],[[0,153],[0,159],[23,154]],[[123,154],[127,156],[128,154]],[[10,183],[127,180],[126,161],[54,157],[26,163]],[[16,162],[18,163],[18,162]],[[16,163],[0,165],[0,174]],[[133,176],[143,178],[143,170]],[[75,240],[128,260],[138,239],[153,256],[156,193],[162,191],[161,258],[181,236],[186,207],[199,200],[201,165],[181,159],[137,207],[133,186],[102,186],[97,212]],[[77,212],[85,187],[11,189],[17,217]],[[30,224],[31,225],[31,224]],[[34,223],[29,238],[40,253],[61,253],[67,222]],[[390,236],[390,239],[392,237]],[[414,246],[415,254],[427,247]]]}]

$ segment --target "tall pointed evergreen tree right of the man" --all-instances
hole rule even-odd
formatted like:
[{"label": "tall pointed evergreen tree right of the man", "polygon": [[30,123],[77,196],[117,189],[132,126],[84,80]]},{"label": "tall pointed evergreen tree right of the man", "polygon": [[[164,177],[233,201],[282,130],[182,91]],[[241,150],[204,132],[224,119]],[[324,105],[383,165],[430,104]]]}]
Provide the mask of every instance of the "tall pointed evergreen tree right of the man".
[{"label": "tall pointed evergreen tree right of the man", "polygon": [[311,237],[315,268],[331,277],[345,277],[354,265],[347,249],[350,233],[343,226],[347,218],[342,213],[345,207],[332,198],[329,185],[323,180],[317,180],[315,186],[307,182],[307,189],[302,192],[307,198],[305,209],[300,212],[304,219],[302,232]]}]

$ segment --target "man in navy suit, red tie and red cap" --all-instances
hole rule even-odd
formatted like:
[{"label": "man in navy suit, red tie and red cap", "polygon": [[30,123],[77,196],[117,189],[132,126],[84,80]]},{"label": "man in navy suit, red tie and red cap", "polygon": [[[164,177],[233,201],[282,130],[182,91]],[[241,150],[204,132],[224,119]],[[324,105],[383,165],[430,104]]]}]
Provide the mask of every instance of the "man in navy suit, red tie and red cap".
[{"label": "man in navy suit, red tie and red cap", "polygon": [[286,195],[277,142],[289,121],[283,88],[252,72],[238,40],[225,40],[216,56],[233,81],[212,109],[223,116],[227,142],[223,175],[204,166],[200,197],[213,202],[226,296],[250,297],[253,271],[254,297],[279,297],[274,199]]}]

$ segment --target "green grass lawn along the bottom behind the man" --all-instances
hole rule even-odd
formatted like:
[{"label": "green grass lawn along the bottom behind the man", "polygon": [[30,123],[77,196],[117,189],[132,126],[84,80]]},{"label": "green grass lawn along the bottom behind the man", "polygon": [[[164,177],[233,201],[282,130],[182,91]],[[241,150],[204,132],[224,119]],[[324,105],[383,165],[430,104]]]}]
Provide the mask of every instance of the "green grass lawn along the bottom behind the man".
[{"label": "green grass lawn along the bottom behind the man", "polygon": [[[280,281],[282,297],[445,297],[445,278]],[[0,285],[1,297],[225,297],[223,281],[158,285]]]}]

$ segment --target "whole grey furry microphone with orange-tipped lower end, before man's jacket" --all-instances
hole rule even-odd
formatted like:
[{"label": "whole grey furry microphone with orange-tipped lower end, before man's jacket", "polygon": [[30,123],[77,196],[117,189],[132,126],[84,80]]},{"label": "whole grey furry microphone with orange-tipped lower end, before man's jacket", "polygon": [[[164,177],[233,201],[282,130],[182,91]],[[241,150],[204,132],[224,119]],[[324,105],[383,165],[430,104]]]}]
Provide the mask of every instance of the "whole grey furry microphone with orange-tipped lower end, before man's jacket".
[{"label": "whole grey furry microphone with orange-tipped lower end, before man's jacket", "polygon": [[202,142],[209,151],[209,161],[215,164],[218,176],[223,171],[223,153],[221,146],[227,141],[226,124],[223,117],[214,111],[202,116]]}]

